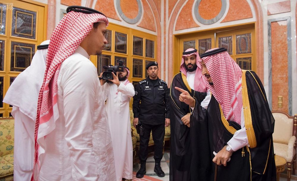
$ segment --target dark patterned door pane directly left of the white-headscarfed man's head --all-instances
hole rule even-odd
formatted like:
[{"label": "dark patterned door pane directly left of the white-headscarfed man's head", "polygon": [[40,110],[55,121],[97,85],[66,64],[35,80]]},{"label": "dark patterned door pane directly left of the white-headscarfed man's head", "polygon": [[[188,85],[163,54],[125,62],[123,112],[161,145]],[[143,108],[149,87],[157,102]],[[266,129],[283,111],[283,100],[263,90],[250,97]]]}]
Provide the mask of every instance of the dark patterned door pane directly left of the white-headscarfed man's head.
[{"label": "dark patterned door pane directly left of the white-headscarfed man's head", "polygon": [[10,71],[23,72],[30,66],[35,54],[35,45],[11,42]]}]

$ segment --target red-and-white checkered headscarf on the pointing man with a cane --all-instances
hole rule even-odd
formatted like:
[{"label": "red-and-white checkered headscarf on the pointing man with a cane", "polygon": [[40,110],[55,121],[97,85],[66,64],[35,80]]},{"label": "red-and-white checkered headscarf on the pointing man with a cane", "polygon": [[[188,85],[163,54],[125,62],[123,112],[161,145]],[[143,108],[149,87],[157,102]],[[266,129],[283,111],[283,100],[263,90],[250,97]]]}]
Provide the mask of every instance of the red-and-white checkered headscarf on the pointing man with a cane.
[{"label": "red-and-white checkered headscarf on the pointing man with a cane", "polygon": [[[211,50],[214,49],[208,51]],[[207,86],[221,105],[225,118],[241,125],[241,68],[227,51],[203,57],[202,60],[214,83],[214,85],[207,84]],[[206,81],[206,77],[204,77],[204,81]]]}]

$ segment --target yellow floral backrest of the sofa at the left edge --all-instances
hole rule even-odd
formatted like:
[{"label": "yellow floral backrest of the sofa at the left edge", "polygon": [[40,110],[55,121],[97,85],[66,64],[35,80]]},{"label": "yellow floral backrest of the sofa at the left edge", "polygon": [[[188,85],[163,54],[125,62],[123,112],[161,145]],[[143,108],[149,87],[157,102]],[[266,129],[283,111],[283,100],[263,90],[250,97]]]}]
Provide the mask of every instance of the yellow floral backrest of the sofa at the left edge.
[{"label": "yellow floral backrest of the sofa at the left edge", "polygon": [[14,119],[0,121],[0,156],[13,153],[14,147]]}]

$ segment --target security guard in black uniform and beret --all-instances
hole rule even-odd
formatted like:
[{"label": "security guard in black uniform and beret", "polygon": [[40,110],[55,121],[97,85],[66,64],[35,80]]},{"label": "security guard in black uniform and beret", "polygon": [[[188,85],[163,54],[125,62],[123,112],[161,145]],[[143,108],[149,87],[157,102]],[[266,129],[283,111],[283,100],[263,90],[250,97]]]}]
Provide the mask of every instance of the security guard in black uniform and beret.
[{"label": "security guard in black uniform and beret", "polygon": [[[151,62],[146,66],[149,76],[138,83],[135,89],[135,96],[133,97],[133,125],[135,128],[141,125],[139,145],[141,166],[136,174],[137,178],[142,178],[146,174],[146,159],[148,157],[151,131],[155,146],[154,172],[159,177],[165,176],[160,162],[163,157],[165,127],[170,124],[169,88],[165,81],[158,78],[158,70],[157,62]],[[142,129],[143,135],[141,135]]]}]

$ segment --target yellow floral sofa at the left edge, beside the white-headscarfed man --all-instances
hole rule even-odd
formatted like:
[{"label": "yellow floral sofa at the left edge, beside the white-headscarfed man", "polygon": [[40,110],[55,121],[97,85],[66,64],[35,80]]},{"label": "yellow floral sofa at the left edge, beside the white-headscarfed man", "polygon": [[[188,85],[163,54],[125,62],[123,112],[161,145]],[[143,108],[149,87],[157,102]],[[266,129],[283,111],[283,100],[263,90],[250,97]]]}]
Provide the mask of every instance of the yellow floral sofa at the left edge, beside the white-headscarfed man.
[{"label": "yellow floral sofa at the left edge, beside the white-headscarfed man", "polygon": [[14,122],[0,118],[0,181],[13,180]]}]

